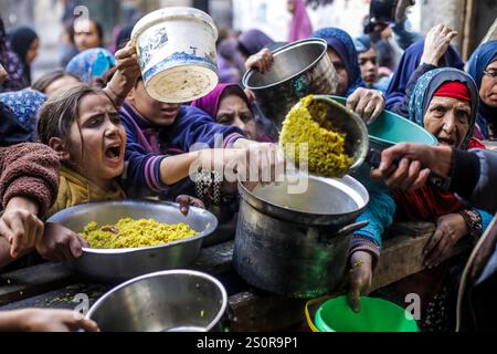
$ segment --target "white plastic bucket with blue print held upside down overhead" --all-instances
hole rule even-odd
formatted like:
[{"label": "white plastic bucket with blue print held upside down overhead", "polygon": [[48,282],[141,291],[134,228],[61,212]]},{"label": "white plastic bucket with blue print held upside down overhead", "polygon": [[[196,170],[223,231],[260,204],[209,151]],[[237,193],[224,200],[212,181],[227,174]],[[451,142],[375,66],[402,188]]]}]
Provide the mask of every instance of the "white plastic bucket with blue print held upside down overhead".
[{"label": "white plastic bucket with blue print held upside down overhead", "polygon": [[184,103],[210,93],[218,84],[218,29],[203,11],[186,7],[150,12],[135,25],[148,94],[166,103]]}]

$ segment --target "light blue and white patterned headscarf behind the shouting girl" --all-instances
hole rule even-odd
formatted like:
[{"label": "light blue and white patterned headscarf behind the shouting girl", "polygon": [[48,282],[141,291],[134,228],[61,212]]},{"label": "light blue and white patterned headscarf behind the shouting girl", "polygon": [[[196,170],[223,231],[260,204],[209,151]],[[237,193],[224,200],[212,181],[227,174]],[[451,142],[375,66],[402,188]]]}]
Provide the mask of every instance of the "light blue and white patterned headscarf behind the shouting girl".
[{"label": "light blue and white patterned headscarf behind the shouting girl", "polygon": [[104,48],[94,48],[74,56],[65,70],[77,75],[84,83],[91,85],[93,79],[102,76],[113,66],[116,66],[114,55]]}]

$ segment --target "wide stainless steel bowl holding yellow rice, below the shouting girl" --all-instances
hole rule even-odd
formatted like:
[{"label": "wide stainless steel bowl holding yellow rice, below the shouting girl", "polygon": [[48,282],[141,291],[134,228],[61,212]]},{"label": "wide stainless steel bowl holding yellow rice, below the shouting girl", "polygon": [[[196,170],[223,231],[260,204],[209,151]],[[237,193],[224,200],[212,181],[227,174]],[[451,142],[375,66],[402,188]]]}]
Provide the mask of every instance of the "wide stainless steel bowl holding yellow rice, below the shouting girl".
[{"label": "wide stainless steel bowl holding yellow rice, below the shouting girl", "polygon": [[84,248],[83,256],[67,263],[68,267],[92,280],[110,283],[156,271],[184,268],[198,257],[202,240],[218,227],[218,219],[207,210],[191,207],[188,216],[184,216],[177,204],[135,200],[80,205],[55,214],[47,221],[82,232],[91,221],[113,225],[121,218],[152,218],[163,223],[184,222],[199,233],[156,247],[112,250]]}]

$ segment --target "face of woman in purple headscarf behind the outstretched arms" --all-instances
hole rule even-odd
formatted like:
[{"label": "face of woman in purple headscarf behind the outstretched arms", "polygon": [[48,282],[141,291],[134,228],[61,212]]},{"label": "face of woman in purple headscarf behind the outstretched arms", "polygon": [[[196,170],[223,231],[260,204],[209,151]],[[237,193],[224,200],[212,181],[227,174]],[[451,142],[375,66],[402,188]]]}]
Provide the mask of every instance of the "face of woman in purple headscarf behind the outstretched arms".
[{"label": "face of woman in purple headscarf behind the outstretched arms", "polygon": [[254,116],[246,102],[237,95],[229,95],[221,100],[215,121],[242,129],[251,140],[257,139]]}]

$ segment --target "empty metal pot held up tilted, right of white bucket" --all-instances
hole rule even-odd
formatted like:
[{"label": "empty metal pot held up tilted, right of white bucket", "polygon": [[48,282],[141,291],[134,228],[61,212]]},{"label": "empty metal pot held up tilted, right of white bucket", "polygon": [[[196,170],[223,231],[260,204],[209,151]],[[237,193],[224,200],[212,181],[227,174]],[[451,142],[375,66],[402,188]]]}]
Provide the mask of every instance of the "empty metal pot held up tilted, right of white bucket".
[{"label": "empty metal pot held up tilted, right of white bucket", "polygon": [[243,85],[252,90],[261,111],[278,128],[300,98],[336,93],[338,75],[327,49],[322,39],[294,42],[273,53],[274,65],[264,75],[257,70],[245,73]]}]

